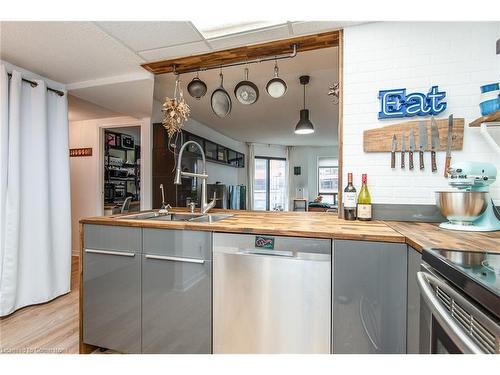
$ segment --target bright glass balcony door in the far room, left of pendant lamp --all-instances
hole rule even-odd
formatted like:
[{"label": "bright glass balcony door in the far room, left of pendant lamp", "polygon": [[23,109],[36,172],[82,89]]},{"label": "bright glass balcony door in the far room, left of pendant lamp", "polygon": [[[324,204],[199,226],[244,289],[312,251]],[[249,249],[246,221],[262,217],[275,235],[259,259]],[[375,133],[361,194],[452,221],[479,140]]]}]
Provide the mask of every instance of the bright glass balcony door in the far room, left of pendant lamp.
[{"label": "bright glass balcony door in the far room, left of pendant lamp", "polygon": [[255,158],[254,209],[284,210],[286,201],[286,160]]}]

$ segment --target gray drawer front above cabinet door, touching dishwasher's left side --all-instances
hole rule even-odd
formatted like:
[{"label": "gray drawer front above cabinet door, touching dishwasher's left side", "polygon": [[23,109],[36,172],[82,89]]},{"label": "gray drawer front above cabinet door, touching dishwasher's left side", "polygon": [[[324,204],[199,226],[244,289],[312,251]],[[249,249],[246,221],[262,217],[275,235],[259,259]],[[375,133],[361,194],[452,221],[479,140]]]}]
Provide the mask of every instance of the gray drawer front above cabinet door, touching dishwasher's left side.
[{"label": "gray drawer front above cabinet door, touching dishwasher's left side", "polygon": [[190,230],[144,229],[143,252],[193,259],[212,259],[212,233]]}]

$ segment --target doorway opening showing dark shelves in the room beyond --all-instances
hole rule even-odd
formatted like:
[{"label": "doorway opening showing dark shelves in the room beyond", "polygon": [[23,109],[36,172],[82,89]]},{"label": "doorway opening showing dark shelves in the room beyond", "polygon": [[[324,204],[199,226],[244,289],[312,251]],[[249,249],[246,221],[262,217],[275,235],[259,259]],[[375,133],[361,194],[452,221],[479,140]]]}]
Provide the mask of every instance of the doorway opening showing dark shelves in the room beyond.
[{"label": "doorway opening showing dark shelves in the room beyond", "polygon": [[141,127],[103,129],[104,215],[140,211]]}]

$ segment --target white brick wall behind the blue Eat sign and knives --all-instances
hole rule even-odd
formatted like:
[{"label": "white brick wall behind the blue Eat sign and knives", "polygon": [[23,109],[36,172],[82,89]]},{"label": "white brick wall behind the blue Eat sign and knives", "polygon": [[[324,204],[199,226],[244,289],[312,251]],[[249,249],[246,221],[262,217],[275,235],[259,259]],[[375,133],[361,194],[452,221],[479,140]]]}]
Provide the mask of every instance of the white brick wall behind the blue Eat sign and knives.
[{"label": "white brick wall behind the blue Eat sign and knives", "polygon": [[[407,88],[427,92],[432,85],[447,92],[448,109],[440,114],[465,118],[480,116],[479,86],[498,82],[500,64],[495,42],[500,23],[372,23],[344,30],[344,139],[343,173],[353,172],[359,187],[361,174],[375,203],[434,204],[434,191],[446,188],[444,152],[437,154],[438,172],[390,168],[389,153],[364,153],[363,130],[404,119],[380,121],[378,91]],[[412,118],[413,120],[415,118]],[[500,141],[500,137],[497,137]],[[466,126],[463,151],[453,161],[488,161],[500,172],[500,156],[481,138],[479,129]],[[417,161],[418,162],[418,161]],[[500,204],[500,182],[492,197]]]}]

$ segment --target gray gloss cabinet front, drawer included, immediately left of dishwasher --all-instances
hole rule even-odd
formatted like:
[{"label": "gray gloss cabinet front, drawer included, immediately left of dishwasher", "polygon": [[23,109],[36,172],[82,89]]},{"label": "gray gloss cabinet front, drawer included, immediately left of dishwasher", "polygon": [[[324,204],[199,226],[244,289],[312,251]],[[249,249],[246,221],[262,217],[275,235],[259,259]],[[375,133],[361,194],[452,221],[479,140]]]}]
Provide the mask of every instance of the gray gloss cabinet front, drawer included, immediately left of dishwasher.
[{"label": "gray gloss cabinet front, drawer included, immediately left of dishwasher", "polygon": [[145,229],[142,352],[212,352],[212,234]]}]

